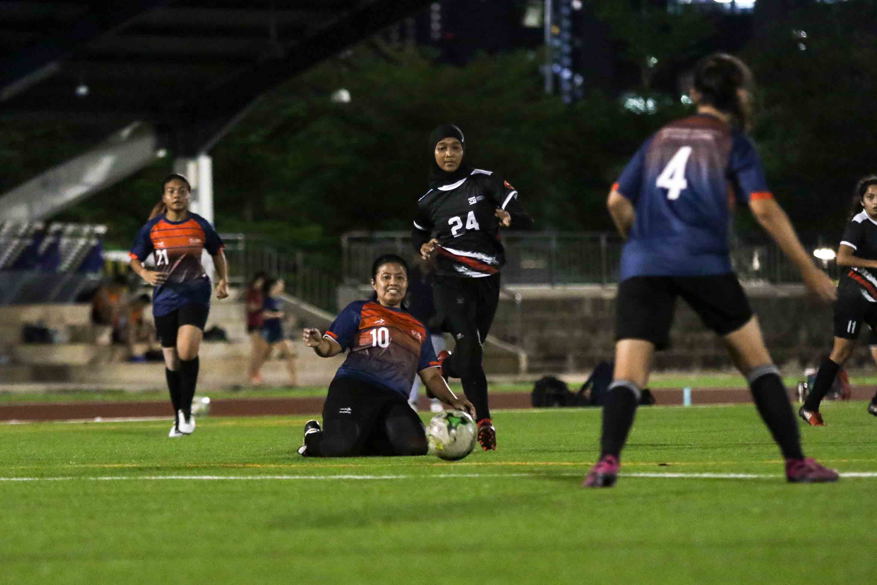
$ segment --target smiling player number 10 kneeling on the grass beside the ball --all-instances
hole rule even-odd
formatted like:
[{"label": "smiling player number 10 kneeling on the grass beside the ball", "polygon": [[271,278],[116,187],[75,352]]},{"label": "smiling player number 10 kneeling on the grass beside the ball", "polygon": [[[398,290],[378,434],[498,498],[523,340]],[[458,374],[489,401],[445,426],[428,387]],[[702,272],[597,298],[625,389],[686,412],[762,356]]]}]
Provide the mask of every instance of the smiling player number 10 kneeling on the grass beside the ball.
[{"label": "smiling player number 10 kneeling on the grass beside the ball", "polygon": [[303,456],[425,455],[424,424],[408,405],[416,373],[442,402],[474,411],[442,378],[424,325],[402,308],[405,260],[395,254],[374,260],[371,284],[374,300],[348,304],[322,336],[317,329],[303,331],[304,345],[322,358],[350,350],[329,385],[323,426],[304,424]]}]

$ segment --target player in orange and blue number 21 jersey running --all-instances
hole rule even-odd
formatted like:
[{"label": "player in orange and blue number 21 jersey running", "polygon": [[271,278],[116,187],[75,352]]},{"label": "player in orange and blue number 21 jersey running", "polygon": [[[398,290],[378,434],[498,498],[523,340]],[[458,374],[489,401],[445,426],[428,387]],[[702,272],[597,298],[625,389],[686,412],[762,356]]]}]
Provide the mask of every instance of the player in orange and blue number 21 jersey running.
[{"label": "player in orange and blue number 21 jersey running", "polygon": [[[131,249],[131,268],[155,289],[153,316],[165,358],[165,377],[174,424],[168,437],[195,431],[192,397],[198,381],[198,349],[210,313],[210,278],[201,264],[207,250],[219,281],[217,298],[228,296],[228,265],[223,243],[206,219],[189,211],[189,180],[168,175],[161,182],[161,201],[155,205]],[[153,254],[155,269],[143,266]]]}]

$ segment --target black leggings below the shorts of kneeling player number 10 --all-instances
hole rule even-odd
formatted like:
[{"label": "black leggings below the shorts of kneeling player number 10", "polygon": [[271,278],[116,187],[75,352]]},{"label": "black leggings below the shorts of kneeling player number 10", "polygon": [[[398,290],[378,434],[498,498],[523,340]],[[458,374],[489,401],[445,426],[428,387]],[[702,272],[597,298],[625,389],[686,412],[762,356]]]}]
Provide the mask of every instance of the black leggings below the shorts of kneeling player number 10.
[{"label": "black leggings below the shorts of kneeling player number 10", "polygon": [[[413,415],[413,416],[412,416]],[[392,403],[374,425],[353,418],[324,419],[323,432],[304,439],[309,457],[425,455],[424,424],[407,403]]]}]

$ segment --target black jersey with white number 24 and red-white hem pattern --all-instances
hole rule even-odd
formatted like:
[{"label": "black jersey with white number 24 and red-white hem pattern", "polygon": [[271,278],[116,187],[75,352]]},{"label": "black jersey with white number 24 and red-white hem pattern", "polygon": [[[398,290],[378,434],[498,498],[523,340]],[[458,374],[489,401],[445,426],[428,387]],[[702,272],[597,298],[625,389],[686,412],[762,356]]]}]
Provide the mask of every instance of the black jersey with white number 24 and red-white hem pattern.
[{"label": "black jersey with white number 24 and red-white hem pattern", "polygon": [[460,181],[430,189],[417,202],[411,232],[414,249],[419,252],[431,238],[439,240],[437,275],[496,275],[505,264],[497,209],[510,213],[512,229],[532,225],[517,203],[517,189],[492,171],[475,168]]}]

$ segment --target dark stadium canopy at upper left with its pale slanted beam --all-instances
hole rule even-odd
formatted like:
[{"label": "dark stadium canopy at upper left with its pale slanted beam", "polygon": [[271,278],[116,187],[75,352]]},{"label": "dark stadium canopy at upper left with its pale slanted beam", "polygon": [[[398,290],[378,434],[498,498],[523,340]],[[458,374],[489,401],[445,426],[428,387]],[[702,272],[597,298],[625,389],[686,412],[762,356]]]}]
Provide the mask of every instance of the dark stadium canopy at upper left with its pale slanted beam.
[{"label": "dark stadium canopy at upper left with its pale slanted beam", "polygon": [[0,118],[114,131],[78,160],[0,197],[0,219],[46,218],[165,148],[194,161],[259,96],[425,4],[0,2]]}]

